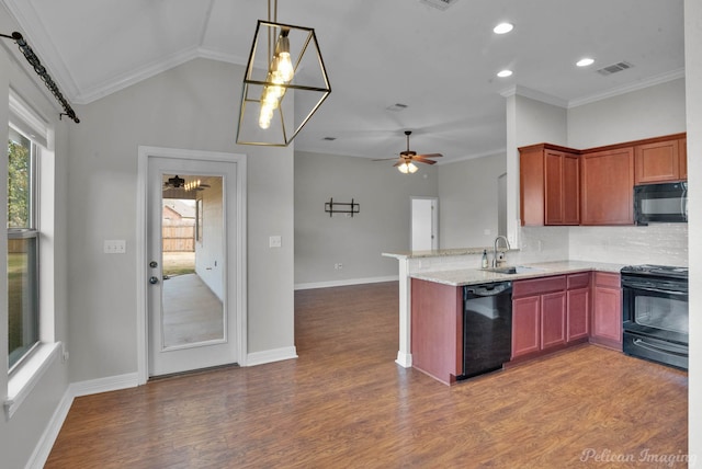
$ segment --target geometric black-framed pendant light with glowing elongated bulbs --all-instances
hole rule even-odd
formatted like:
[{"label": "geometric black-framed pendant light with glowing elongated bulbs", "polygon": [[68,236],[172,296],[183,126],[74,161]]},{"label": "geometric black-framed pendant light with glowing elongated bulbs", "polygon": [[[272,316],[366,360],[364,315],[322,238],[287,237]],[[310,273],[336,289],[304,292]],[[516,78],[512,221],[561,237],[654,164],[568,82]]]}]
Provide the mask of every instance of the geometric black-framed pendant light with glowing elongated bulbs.
[{"label": "geometric black-framed pendant light with glowing elongated bulbs", "polygon": [[237,144],[286,147],[329,93],[315,30],[278,23],[278,0],[272,9],[268,0],[244,77]]}]

